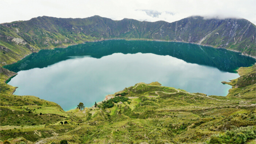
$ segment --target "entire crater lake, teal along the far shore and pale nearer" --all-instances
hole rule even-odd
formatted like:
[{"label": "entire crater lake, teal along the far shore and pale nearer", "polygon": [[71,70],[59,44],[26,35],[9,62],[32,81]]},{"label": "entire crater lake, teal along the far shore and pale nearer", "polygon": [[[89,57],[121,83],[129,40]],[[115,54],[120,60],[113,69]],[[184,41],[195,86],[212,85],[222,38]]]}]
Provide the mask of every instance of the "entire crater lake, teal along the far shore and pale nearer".
[{"label": "entire crater lake, teal along the far shore and pale nearer", "polygon": [[86,107],[136,83],[158,81],[188,92],[226,96],[235,70],[255,59],[225,49],[179,42],[111,40],[41,50],[5,68],[16,95],[34,95],[64,110]]}]

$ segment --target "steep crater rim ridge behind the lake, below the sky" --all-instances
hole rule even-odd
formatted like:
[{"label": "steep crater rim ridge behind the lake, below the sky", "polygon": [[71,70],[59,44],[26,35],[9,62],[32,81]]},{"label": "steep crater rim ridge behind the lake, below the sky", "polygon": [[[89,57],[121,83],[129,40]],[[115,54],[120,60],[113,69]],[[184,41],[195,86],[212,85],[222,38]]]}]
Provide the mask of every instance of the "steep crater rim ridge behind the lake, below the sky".
[{"label": "steep crater rim ridge behind the lake, below the sky", "polygon": [[246,19],[204,19],[192,16],[176,22],[134,19],[53,18],[0,24],[1,66],[40,49],[67,47],[103,39],[164,40],[235,50],[255,57],[256,26]]}]

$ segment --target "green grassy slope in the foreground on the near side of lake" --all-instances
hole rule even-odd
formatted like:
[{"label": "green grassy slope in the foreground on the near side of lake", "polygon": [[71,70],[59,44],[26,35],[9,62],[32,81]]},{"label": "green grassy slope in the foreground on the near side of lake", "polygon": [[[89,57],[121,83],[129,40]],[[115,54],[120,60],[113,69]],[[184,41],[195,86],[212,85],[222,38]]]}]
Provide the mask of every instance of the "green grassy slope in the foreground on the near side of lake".
[{"label": "green grassy slope in the foreground on the near side of lake", "polygon": [[[251,75],[255,65],[238,72],[241,77]],[[14,74],[2,70],[1,77]],[[234,94],[237,88],[232,88],[226,97],[191,94],[158,82],[138,83],[117,92],[126,93],[128,102],[114,103],[108,109],[67,112],[35,96],[11,95],[12,86],[6,84],[10,90],[1,91],[0,139],[44,143],[64,139],[69,143],[234,143],[238,139],[234,133],[241,132],[247,141],[253,137],[246,132],[255,133],[255,85],[241,83],[245,84],[241,87],[244,90],[239,89],[241,96]],[[244,92],[253,85],[249,93]],[[60,121],[68,124],[61,125]]]}]

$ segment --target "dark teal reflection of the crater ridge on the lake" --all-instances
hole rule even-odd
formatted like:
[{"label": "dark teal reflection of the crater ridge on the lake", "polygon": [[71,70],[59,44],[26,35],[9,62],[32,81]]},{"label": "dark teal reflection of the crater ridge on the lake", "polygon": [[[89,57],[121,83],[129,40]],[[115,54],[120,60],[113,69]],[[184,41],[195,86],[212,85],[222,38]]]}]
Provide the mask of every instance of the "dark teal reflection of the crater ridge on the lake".
[{"label": "dark teal reflection of the crater ridge on the lake", "polygon": [[248,67],[255,63],[254,58],[243,56],[237,52],[190,43],[111,40],[79,44],[66,49],[41,50],[4,68],[18,72],[32,68],[44,68],[74,56],[101,58],[113,53],[133,54],[138,52],[169,55],[186,62],[208,65],[226,72],[235,72],[239,67]]}]

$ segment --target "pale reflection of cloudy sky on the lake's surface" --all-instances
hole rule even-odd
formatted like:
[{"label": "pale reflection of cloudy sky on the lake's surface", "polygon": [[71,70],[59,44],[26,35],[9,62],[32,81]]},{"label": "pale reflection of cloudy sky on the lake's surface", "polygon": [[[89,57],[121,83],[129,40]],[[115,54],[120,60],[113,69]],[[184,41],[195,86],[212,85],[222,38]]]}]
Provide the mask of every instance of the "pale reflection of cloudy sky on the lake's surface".
[{"label": "pale reflection of cloudy sky on the lake's surface", "polygon": [[114,53],[102,58],[76,57],[46,68],[18,72],[8,83],[18,86],[16,95],[34,95],[70,110],[83,102],[90,107],[107,94],[136,83],[158,81],[163,86],[189,92],[226,96],[231,86],[223,85],[237,73],[187,63],[171,56],[152,53]]}]

